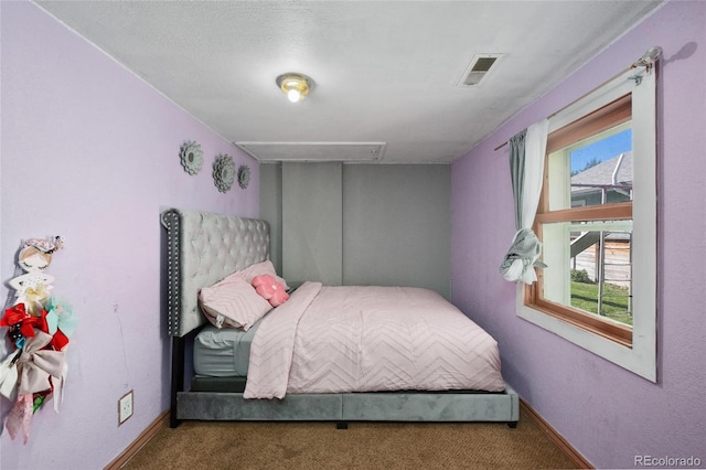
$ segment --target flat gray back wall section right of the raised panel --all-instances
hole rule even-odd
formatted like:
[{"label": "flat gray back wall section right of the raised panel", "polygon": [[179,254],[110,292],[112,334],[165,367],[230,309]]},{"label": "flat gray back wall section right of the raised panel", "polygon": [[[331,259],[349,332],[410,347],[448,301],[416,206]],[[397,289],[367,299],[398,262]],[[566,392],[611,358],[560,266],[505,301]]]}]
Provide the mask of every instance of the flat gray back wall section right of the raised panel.
[{"label": "flat gray back wall section right of the raised panel", "polygon": [[450,297],[450,167],[344,168],[343,280]]}]

